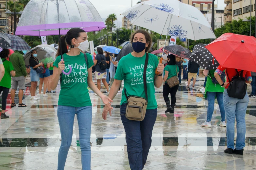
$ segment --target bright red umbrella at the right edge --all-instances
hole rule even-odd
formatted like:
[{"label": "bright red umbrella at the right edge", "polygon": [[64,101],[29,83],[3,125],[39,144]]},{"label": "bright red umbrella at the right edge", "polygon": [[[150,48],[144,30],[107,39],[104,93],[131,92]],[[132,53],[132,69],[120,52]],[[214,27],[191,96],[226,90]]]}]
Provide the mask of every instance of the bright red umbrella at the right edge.
[{"label": "bright red umbrella at the right edge", "polygon": [[226,33],[206,48],[222,67],[256,72],[256,38]]}]

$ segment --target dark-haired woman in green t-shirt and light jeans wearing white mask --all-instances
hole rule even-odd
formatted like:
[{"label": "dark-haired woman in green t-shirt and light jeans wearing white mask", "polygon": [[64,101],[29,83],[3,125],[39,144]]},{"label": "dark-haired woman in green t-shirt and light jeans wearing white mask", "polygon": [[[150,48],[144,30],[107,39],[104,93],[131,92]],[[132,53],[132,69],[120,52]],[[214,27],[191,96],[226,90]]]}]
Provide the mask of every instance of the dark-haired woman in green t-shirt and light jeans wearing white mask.
[{"label": "dark-haired woman in green t-shirt and light jeans wearing white mask", "polygon": [[[90,54],[83,54],[89,48],[87,34],[80,28],[73,28],[60,39],[59,55],[53,66],[53,79],[51,88],[55,89],[60,82],[60,95],[58,102],[58,120],[60,124],[61,145],[59,150],[58,170],[63,170],[67,159],[68,150],[71,146],[75,114],[79,127],[80,147],[82,151],[82,169],[91,169],[91,126],[92,126],[92,103],[87,86],[101,97],[103,103],[111,109],[112,100],[103,95],[93,82],[92,66],[93,59]],[[67,45],[71,47],[68,52]],[[60,50],[61,48],[61,50]],[[61,61],[61,56],[63,60]],[[85,58],[87,57],[87,61]],[[65,63],[65,64],[64,64]],[[69,75],[61,74],[62,70]]]}]

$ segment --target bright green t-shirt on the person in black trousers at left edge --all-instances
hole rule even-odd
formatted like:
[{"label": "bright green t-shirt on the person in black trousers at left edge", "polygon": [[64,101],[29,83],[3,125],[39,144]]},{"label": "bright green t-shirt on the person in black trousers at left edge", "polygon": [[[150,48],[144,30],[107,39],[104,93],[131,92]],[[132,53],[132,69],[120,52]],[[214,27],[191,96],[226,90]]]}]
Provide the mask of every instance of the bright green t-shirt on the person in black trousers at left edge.
[{"label": "bright green t-shirt on the person in black trousers at left edge", "polygon": [[11,88],[11,71],[14,70],[11,62],[8,60],[4,61],[5,59],[2,58],[4,67],[5,67],[5,74],[2,80],[0,81],[0,86],[6,87],[6,88]]}]

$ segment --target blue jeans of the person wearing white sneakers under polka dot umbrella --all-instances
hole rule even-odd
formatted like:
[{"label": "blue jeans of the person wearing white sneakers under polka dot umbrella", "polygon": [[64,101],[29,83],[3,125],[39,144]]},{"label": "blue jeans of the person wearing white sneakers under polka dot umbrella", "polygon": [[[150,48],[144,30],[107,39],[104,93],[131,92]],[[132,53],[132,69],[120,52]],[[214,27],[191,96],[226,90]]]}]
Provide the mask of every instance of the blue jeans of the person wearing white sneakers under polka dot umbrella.
[{"label": "blue jeans of the person wearing white sneakers under polka dot umbrella", "polygon": [[207,108],[207,122],[212,120],[215,96],[217,97],[218,105],[220,107],[221,121],[225,121],[225,109],[223,104],[223,93],[222,92],[206,92],[208,108]]}]

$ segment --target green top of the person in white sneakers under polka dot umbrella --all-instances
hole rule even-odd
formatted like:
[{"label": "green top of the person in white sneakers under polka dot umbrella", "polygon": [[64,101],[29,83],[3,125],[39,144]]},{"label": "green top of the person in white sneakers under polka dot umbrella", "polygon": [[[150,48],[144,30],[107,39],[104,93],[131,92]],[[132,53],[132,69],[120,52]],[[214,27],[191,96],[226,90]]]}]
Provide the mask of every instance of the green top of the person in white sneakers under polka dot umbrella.
[{"label": "green top of the person in white sneakers under polka dot umbrella", "polygon": [[215,70],[209,71],[207,81],[206,81],[206,86],[205,86],[205,94],[204,94],[205,98],[207,98],[207,95],[206,95],[207,92],[222,92],[223,93],[225,90],[225,88],[221,87],[220,84],[213,84],[211,77],[212,76],[214,77],[214,72],[215,72]]}]

